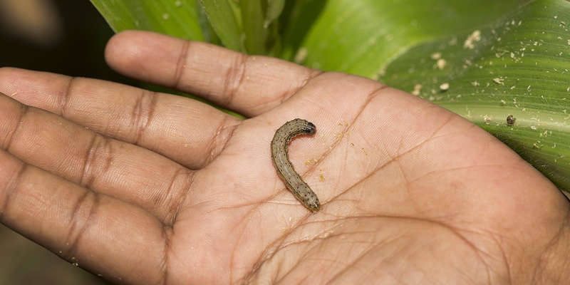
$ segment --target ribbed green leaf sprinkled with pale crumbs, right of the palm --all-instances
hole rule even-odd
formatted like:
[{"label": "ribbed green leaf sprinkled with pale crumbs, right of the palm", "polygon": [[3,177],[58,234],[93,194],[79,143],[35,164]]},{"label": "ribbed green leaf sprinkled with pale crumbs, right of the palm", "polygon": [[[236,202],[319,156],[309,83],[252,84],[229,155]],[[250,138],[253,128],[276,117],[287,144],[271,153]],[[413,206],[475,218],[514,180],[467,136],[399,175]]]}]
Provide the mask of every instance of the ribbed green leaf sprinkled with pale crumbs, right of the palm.
[{"label": "ribbed green leaf sprinkled with pale crumbs, right of the palm", "polygon": [[567,23],[568,2],[532,1],[468,33],[406,51],[381,80],[471,120],[570,190]]}]

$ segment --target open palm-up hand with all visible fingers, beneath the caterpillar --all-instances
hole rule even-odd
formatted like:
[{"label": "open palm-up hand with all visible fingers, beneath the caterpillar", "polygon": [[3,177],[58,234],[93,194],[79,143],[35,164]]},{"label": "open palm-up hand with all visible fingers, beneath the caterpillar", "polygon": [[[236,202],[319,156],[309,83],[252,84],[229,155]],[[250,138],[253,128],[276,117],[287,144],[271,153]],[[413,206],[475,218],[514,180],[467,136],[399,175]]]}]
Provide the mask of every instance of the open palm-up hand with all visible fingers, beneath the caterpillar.
[{"label": "open palm-up hand with all visible fingers, beneath the caterpillar", "polygon": [[[128,31],[110,66],[197,100],[0,69],[0,222],[123,284],[554,284],[569,202],[477,126],[343,73]],[[311,214],[269,142],[293,118]],[[308,164],[305,164],[309,160]],[[324,178],[321,181],[321,175]]]}]

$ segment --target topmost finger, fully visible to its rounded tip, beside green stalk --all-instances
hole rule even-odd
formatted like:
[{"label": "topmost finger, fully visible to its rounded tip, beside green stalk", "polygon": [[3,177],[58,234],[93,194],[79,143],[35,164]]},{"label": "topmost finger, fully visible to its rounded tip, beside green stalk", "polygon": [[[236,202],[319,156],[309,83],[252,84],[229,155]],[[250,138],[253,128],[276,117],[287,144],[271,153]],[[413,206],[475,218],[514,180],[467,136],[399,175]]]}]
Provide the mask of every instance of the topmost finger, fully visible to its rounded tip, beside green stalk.
[{"label": "topmost finger, fully visible to its rounded tip, beside green stalk", "polygon": [[201,95],[247,116],[271,110],[320,73],[276,58],[144,31],[118,33],[105,54],[120,73]]}]

